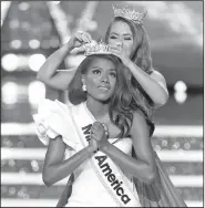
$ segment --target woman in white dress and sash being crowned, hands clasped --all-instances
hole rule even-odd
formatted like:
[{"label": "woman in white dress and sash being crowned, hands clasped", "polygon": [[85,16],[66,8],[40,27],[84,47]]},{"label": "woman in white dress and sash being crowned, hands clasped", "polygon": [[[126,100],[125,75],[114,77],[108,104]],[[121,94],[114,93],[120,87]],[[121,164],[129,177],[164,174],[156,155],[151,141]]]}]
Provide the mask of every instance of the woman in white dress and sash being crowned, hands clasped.
[{"label": "woman in white dress and sash being crowned, hands clasped", "polygon": [[65,189],[65,207],[163,206],[163,170],[150,138],[154,125],[132,93],[127,69],[109,49],[102,42],[86,44],[69,103],[44,100],[33,116],[48,145],[43,181],[52,186],[74,178],[72,191]]}]

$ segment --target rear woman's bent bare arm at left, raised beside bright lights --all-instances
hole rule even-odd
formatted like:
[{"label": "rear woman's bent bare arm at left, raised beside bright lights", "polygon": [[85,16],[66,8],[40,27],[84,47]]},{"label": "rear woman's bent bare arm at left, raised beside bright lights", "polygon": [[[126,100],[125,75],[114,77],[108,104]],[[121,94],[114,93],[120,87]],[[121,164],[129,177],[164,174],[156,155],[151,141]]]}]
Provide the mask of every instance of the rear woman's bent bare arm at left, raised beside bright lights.
[{"label": "rear woman's bent bare arm at left, raised beside bright lights", "polygon": [[74,76],[75,70],[71,70],[69,72],[57,72],[57,69],[72,49],[73,48],[69,42],[52,53],[39,70],[37,79],[53,89],[62,91],[68,90],[69,83]]}]

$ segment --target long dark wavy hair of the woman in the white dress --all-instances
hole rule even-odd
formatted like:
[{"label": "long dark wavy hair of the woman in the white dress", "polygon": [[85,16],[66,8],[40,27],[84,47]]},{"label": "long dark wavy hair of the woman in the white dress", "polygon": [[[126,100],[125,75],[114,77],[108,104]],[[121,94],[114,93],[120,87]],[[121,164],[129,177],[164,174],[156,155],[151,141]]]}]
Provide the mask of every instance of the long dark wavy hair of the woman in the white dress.
[{"label": "long dark wavy hair of the woman in the white dress", "polygon": [[121,129],[121,133],[117,136],[122,138],[129,135],[134,111],[141,112],[145,116],[147,125],[150,126],[150,133],[152,135],[154,125],[150,119],[146,110],[144,108],[143,101],[136,96],[136,93],[133,93],[131,82],[125,79],[127,69],[124,69],[124,65],[121,63],[120,59],[112,54],[90,55],[81,62],[69,86],[70,102],[78,105],[86,101],[86,92],[83,92],[82,90],[82,74],[86,74],[90,64],[95,58],[110,60],[115,65],[116,85],[114,93],[110,98],[109,115],[111,122]]}]

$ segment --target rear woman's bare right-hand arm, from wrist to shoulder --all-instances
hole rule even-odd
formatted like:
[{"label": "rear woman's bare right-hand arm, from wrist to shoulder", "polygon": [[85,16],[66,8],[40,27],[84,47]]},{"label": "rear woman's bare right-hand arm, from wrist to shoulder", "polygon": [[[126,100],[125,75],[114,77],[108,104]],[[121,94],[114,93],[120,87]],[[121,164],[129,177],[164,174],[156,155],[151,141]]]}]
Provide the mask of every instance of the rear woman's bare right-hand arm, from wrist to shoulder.
[{"label": "rear woman's bare right-hand arm, from wrist to shoulder", "polygon": [[139,84],[152,98],[156,107],[166,104],[168,100],[168,91],[166,87],[166,81],[160,72],[154,71],[151,75],[148,75],[133,62],[130,62],[127,67],[130,69],[133,76],[137,80]]}]

